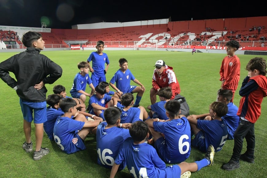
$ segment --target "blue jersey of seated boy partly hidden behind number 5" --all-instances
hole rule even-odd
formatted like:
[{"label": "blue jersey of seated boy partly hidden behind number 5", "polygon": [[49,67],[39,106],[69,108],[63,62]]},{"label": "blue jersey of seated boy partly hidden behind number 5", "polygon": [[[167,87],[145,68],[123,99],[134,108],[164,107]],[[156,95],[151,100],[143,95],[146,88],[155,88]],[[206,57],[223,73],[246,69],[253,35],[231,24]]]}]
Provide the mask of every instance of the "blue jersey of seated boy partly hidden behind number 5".
[{"label": "blue jersey of seated boy partly hidden behind number 5", "polygon": [[234,103],[230,102],[227,104],[228,113],[222,117],[227,125],[228,136],[227,139],[234,139],[234,132],[239,124],[239,116],[236,115],[238,111],[238,107],[234,105]]}]

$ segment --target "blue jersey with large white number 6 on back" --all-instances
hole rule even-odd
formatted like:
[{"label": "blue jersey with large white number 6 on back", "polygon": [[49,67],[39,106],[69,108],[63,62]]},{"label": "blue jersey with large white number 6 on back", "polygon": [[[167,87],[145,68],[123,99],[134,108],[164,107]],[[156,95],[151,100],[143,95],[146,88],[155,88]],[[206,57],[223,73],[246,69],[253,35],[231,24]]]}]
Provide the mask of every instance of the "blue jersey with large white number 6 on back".
[{"label": "blue jersey with large white number 6 on back", "polygon": [[185,161],[191,151],[191,128],[186,117],[168,122],[153,122],[155,131],[165,136],[164,143],[158,148],[160,158],[174,164]]}]

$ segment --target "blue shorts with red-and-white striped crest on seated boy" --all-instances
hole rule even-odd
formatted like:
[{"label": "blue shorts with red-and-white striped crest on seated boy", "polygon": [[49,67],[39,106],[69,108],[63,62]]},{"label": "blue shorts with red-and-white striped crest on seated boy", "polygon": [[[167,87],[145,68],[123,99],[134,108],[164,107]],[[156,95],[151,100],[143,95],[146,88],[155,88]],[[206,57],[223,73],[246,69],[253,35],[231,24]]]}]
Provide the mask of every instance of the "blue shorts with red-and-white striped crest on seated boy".
[{"label": "blue shorts with red-and-white striped crest on seated boy", "polygon": [[84,140],[81,139],[77,133],[78,132],[76,131],[76,134],[72,138],[72,142],[70,142],[68,147],[69,150],[64,150],[65,153],[71,154],[86,149],[86,146],[83,143]]}]

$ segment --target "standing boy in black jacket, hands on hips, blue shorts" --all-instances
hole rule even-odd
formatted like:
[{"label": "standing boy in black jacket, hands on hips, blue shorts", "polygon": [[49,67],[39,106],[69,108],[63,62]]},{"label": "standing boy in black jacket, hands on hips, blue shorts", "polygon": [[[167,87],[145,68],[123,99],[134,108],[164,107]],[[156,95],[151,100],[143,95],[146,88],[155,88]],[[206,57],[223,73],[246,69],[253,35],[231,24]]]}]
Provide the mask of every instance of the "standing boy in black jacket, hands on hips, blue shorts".
[{"label": "standing boy in black jacket, hands on hips, blue shorts", "polygon": [[[16,54],[0,63],[0,78],[8,86],[16,90],[20,98],[23,114],[23,130],[26,141],[22,148],[26,152],[33,151],[31,140],[31,123],[34,122],[36,147],[33,153],[34,160],[40,160],[49,153],[49,149],[41,148],[44,135],[46,117],[46,83],[52,84],[62,75],[62,68],[40,54],[44,49],[41,33],[28,31],[22,36],[22,43],[26,51]],[[29,70],[30,69],[30,70]],[[13,72],[17,81],[9,72]],[[34,117],[33,117],[34,115]]]}]

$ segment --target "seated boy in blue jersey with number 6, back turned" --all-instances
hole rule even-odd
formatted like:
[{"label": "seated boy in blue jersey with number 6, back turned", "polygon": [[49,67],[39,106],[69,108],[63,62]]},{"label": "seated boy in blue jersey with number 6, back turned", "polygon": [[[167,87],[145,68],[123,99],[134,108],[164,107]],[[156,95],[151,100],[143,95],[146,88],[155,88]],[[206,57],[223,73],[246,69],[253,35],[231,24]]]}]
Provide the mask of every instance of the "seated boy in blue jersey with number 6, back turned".
[{"label": "seated boy in blue jersey with number 6, back turned", "polygon": [[169,121],[155,118],[147,119],[145,122],[149,126],[159,157],[165,163],[180,163],[190,155],[190,124],[184,115],[179,115],[181,112],[179,101],[170,100],[164,107]]}]

